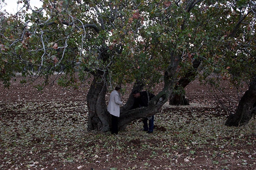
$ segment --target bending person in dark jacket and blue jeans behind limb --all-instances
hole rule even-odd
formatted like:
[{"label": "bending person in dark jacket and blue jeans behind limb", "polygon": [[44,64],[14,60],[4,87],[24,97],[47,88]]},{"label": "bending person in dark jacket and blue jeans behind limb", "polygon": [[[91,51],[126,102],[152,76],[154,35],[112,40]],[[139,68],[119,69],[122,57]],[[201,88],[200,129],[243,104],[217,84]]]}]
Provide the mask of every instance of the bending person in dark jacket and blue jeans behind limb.
[{"label": "bending person in dark jacket and blue jeans behind limb", "polygon": [[[149,101],[154,98],[154,94],[149,93],[147,91],[133,91],[133,97],[135,98],[135,102],[133,105],[133,109],[137,107],[147,107]],[[149,121],[149,124],[147,123]],[[143,130],[147,131],[147,133],[153,133],[154,128],[154,115],[149,116],[148,118],[143,118]]]}]

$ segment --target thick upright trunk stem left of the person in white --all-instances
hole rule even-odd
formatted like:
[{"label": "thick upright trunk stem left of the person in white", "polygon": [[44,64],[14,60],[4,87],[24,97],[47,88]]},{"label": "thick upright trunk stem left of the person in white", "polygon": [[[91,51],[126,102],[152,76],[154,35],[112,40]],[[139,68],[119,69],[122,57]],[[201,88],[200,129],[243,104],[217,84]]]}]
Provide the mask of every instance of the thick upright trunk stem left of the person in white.
[{"label": "thick upright trunk stem left of the person in white", "polygon": [[107,87],[102,81],[103,74],[103,72],[98,71],[98,74],[94,75],[93,82],[87,94],[89,112],[88,130],[107,132],[111,127],[111,117],[107,112],[105,101]]}]

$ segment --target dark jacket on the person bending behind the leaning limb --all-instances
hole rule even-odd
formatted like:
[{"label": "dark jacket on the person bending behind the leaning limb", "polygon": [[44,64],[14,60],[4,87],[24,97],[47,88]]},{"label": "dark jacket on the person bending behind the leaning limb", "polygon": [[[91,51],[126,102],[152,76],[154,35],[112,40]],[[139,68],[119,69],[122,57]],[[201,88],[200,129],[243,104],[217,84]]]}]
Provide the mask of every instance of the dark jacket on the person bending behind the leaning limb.
[{"label": "dark jacket on the person bending behind the leaning limb", "polygon": [[147,107],[148,102],[154,97],[155,97],[155,95],[152,93],[149,93],[147,91],[141,91],[140,97],[135,98],[135,100],[134,100],[133,109],[135,109],[137,107]]}]

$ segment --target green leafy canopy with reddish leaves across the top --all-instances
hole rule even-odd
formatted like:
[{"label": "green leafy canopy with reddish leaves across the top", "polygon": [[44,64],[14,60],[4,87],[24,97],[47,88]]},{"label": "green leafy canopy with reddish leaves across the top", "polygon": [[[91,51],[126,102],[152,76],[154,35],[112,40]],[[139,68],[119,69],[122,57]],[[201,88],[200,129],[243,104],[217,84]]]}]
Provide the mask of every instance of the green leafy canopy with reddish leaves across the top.
[{"label": "green leafy canopy with reddish leaves across the top", "polygon": [[[48,75],[79,64],[109,70],[113,82],[154,83],[173,56],[181,61],[179,76],[195,58],[203,59],[206,75],[255,74],[253,1],[45,0],[40,9],[22,3],[26,10],[17,14],[1,12],[2,79],[29,66]],[[99,58],[110,51],[107,60]]]}]

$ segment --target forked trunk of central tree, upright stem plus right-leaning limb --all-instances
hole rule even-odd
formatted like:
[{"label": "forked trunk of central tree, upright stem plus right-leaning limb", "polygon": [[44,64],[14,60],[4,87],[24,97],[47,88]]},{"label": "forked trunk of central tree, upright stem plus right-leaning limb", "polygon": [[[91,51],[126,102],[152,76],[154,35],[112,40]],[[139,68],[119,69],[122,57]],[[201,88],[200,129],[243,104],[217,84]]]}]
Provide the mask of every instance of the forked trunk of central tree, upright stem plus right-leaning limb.
[{"label": "forked trunk of central tree, upright stem plus right-leaning limb", "polygon": [[[176,73],[178,60],[175,62],[176,65],[174,65],[174,67],[169,66],[165,72],[165,84],[163,90],[159,94],[157,94],[152,100],[150,100],[147,107],[131,109],[131,106],[133,105],[133,98],[130,94],[131,98],[130,100],[128,100],[128,104],[126,105],[129,107],[127,107],[126,109],[121,108],[118,123],[120,130],[126,128],[126,126],[130,122],[136,119],[146,118],[159,112],[164,103],[169,99],[169,96],[173,90],[173,81],[175,81],[173,77],[175,77],[174,75]],[[93,82],[87,94],[87,106],[89,112],[88,130],[107,132],[111,129],[111,119],[110,114],[107,112],[107,105],[105,101],[107,87],[105,82],[102,81],[103,75],[104,72],[101,71],[98,71],[97,74],[94,74]],[[137,88],[141,88],[141,86],[138,85]]]}]

